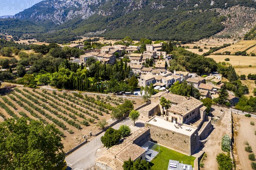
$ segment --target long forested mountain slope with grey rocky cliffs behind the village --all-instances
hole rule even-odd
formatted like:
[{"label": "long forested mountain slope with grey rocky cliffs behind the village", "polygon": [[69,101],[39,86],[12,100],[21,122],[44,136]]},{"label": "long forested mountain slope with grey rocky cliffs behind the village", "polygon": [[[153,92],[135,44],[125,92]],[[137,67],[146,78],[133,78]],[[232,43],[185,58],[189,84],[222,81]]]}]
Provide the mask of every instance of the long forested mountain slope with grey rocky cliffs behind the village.
[{"label": "long forested mountain slope with grey rocky cliffs behind the village", "polygon": [[[38,40],[59,43],[93,34],[115,39],[131,36],[189,41],[229,27],[225,21],[234,6],[247,14],[248,9],[255,11],[256,1],[44,0],[14,19],[0,19],[0,32],[17,36],[32,33],[30,37]],[[17,23],[21,25],[18,28]]]}]

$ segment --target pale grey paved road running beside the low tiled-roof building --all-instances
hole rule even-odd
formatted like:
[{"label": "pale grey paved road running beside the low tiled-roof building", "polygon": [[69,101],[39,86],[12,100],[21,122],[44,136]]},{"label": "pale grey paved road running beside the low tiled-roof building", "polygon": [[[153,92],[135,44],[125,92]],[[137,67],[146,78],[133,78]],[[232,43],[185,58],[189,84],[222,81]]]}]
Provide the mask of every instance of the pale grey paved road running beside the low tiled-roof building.
[{"label": "pale grey paved road running beside the low tiled-roof building", "polygon": [[[131,119],[126,118],[124,121],[114,125],[113,128],[118,129],[122,124],[130,126],[132,121]],[[101,154],[106,150],[100,141],[100,138],[104,134],[105,133],[101,133],[92,141],[84,144],[84,146],[67,156],[65,160],[67,161],[68,170],[87,170],[88,168],[93,167],[96,158],[101,156]]]}]

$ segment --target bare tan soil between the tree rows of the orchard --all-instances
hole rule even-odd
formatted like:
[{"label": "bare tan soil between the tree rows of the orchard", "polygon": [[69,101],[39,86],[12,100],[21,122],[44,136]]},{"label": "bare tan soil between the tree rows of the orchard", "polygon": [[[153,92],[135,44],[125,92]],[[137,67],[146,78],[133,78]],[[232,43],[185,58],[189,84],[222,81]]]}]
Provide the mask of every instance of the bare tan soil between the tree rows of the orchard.
[{"label": "bare tan soil between the tree rows of the orchard", "polygon": [[[19,88],[19,89],[22,90],[23,88]],[[32,89],[29,89],[29,88],[26,88],[26,89],[28,89],[29,92],[34,93],[33,97],[35,97],[35,98],[44,98],[44,97],[38,95],[37,93],[33,92]],[[43,93],[43,92],[42,92],[42,89],[36,89],[36,91]],[[24,92],[24,91],[22,90],[22,92]],[[49,93],[52,93],[52,91],[50,91],[50,90],[49,90],[48,92],[49,92]],[[16,92],[16,93],[17,93],[18,95],[22,96],[20,93],[18,93],[18,92]],[[24,92],[24,93],[26,93],[26,92]],[[58,93],[58,94],[63,94],[63,92],[57,92],[57,93]],[[73,96],[73,94],[72,94],[71,92],[67,92],[67,95]],[[97,95],[98,95],[98,94],[95,94],[95,95],[88,95],[88,96],[89,96],[89,97],[93,97],[93,98],[97,98]],[[120,98],[120,97],[116,97],[116,96],[111,96],[111,100],[109,100],[109,99],[107,99],[106,96],[103,96],[103,95],[99,95],[99,96],[100,96],[101,100],[107,101],[108,103],[110,103],[110,104],[111,104],[112,106],[114,106],[114,107],[116,106],[116,104],[122,104],[125,99],[134,101],[134,108],[140,106],[141,104],[144,104],[144,101],[143,101],[142,98]],[[22,97],[29,101],[29,99],[27,99],[25,96],[22,96]],[[73,96],[73,97],[74,97],[74,96]],[[7,98],[8,98],[8,97],[7,97]],[[15,97],[15,98],[16,98],[16,97]],[[74,97],[74,98],[75,98],[75,97]],[[27,112],[23,107],[19,107],[19,106],[16,104],[15,101],[12,101],[10,98],[8,98],[8,99],[9,99],[9,101],[11,101],[13,104],[15,104],[15,106],[17,106],[17,110],[14,110],[13,108],[10,107],[10,109],[12,109],[12,111],[15,112],[15,114],[17,114],[18,116],[20,116],[20,115],[18,114],[18,112],[23,111],[23,112],[25,112],[25,113],[29,116],[29,118],[36,119],[36,118],[33,117],[32,115],[30,115],[30,113]],[[64,105],[64,106],[66,106],[66,107],[69,107],[70,109],[73,109],[73,110],[77,111],[78,113],[82,113],[82,112],[79,111],[80,109],[82,109],[82,110],[84,110],[84,111],[87,110],[86,108],[80,106],[79,104],[74,104],[74,103],[72,103],[72,102],[70,102],[70,101],[68,101],[68,100],[66,100],[66,99],[63,99],[63,98],[61,98],[61,99],[62,99],[63,101],[66,101],[66,102],[70,103],[70,104],[73,104],[73,106],[76,106],[76,108],[75,108],[75,107],[72,107],[72,106],[70,106],[70,105],[67,105],[67,104],[65,104],[64,102],[58,101],[57,99],[54,99],[55,102],[52,102],[52,101],[50,101],[49,99],[47,99],[47,103],[45,103],[45,104],[46,104],[48,107],[50,107],[49,103],[51,103],[51,104],[55,104],[55,103],[56,103],[56,104],[58,105],[58,107],[59,107],[61,110],[66,111],[67,114],[70,114],[71,112],[70,112],[69,110],[65,109],[64,107],[61,107],[61,105]],[[1,98],[0,98],[0,101],[3,102],[3,100],[2,100]],[[32,101],[30,101],[30,102],[33,103],[33,104],[35,104],[37,107],[40,107],[41,109],[43,109],[43,107],[41,107],[41,104],[43,104],[44,102],[41,101],[40,99],[38,99],[38,101],[39,101],[39,103],[33,103]],[[82,103],[83,100],[79,99],[79,102]],[[25,104],[25,103],[24,103],[24,104]],[[55,104],[55,105],[56,105],[56,104]],[[27,104],[25,104],[25,105],[26,105],[27,107],[29,107]],[[50,107],[50,108],[51,108],[52,110],[57,111],[56,109],[54,109],[54,108],[52,108],[52,107]],[[95,109],[96,109],[96,108],[93,108],[93,110],[95,110]],[[83,124],[81,124],[81,121],[83,121],[83,119],[80,118],[79,116],[75,115],[76,118],[73,119],[73,118],[70,118],[69,116],[67,116],[67,115],[65,115],[65,114],[61,114],[61,115],[63,115],[64,117],[68,118],[69,120],[73,120],[73,121],[75,121],[77,124],[80,124],[80,126],[82,127],[82,129],[81,129],[81,130],[78,130],[78,129],[76,129],[75,127],[71,126],[70,124],[67,124],[67,122],[64,121],[64,120],[62,120],[61,118],[56,117],[56,115],[52,114],[51,112],[47,111],[46,109],[43,109],[43,110],[44,110],[45,112],[47,112],[47,114],[51,115],[53,118],[57,119],[58,121],[63,122],[63,123],[69,128],[69,130],[73,130],[74,133],[73,133],[73,134],[70,134],[70,133],[68,133],[67,131],[65,131],[65,130],[63,130],[62,128],[60,128],[60,127],[57,126],[57,128],[58,128],[59,130],[61,130],[61,131],[64,133],[64,135],[66,135],[66,138],[62,138],[62,143],[64,144],[64,151],[68,151],[68,150],[70,150],[70,149],[76,147],[76,146],[77,146],[78,144],[80,144],[82,141],[84,141],[84,135],[89,136],[89,133],[90,133],[90,132],[91,132],[91,133],[97,133],[97,132],[99,132],[99,131],[100,131],[99,128],[96,127],[96,124],[97,124],[97,122],[98,122],[99,120],[106,119],[109,123],[112,123],[112,122],[113,122],[113,120],[111,120],[111,115],[110,115],[110,114],[106,114],[105,112],[102,112],[102,113],[103,113],[103,116],[101,116],[101,115],[97,115],[96,113],[94,113],[94,112],[92,112],[92,111],[90,111],[90,110],[87,110],[87,111],[90,112],[92,115],[93,115],[93,114],[94,114],[94,115],[97,115],[97,116],[99,117],[99,119],[96,120],[95,123],[89,123],[90,126],[86,127],[86,126],[84,126]],[[35,110],[34,110],[34,111],[35,111]],[[36,112],[36,111],[35,111],[35,112]],[[111,112],[111,111],[109,111],[109,112]],[[6,118],[11,118],[11,116],[8,115],[8,114],[5,112],[4,109],[2,110],[2,113],[3,113],[4,115],[6,115]],[[39,116],[41,116],[42,118],[45,118],[45,117],[44,117],[43,115],[41,115],[39,112],[36,112],[36,113],[37,113]],[[58,112],[58,114],[59,114],[59,113],[60,113],[60,112]],[[86,115],[86,114],[84,114],[84,113],[82,113],[82,114],[83,114],[86,118],[92,118],[92,117],[90,117],[89,115]],[[74,115],[74,114],[72,114],[72,115]],[[0,121],[2,121],[2,120],[0,120]],[[48,123],[52,123],[52,121],[48,120],[47,118],[46,118],[46,121],[47,121]]]}]

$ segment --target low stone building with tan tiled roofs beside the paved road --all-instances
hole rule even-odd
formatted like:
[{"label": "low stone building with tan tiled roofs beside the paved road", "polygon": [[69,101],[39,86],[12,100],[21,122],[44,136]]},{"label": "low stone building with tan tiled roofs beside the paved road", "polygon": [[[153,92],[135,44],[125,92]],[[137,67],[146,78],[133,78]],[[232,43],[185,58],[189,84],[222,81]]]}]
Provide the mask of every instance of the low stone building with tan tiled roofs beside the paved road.
[{"label": "low stone building with tan tiled roofs beside the paved road", "polygon": [[121,144],[106,150],[95,161],[95,170],[122,170],[124,161],[145,159],[146,150],[140,147],[150,141],[150,129],[140,128],[126,138]]}]

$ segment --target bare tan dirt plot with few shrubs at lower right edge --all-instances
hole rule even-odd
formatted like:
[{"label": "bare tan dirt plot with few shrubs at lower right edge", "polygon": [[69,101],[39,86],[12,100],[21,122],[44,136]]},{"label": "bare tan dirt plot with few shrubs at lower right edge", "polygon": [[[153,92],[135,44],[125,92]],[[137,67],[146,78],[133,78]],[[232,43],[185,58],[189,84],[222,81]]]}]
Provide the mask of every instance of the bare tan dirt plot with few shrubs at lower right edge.
[{"label": "bare tan dirt plot with few shrubs at lower right edge", "polygon": [[236,160],[236,169],[238,170],[252,170],[251,161],[248,159],[249,153],[245,148],[245,141],[252,147],[253,153],[256,153],[256,135],[254,131],[256,126],[250,125],[250,121],[256,124],[256,118],[247,118],[244,115],[233,114],[234,121],[234,156]]}]

